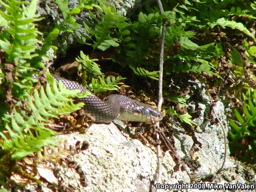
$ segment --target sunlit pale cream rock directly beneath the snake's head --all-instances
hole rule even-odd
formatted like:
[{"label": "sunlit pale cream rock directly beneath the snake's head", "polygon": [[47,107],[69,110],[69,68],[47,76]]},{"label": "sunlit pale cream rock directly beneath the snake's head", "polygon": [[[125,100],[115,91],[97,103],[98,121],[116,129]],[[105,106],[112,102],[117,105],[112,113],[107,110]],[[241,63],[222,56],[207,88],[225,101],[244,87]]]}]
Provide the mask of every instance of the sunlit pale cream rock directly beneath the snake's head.
[{"label": "sunlit pale cream rock directly beneath the snake's head", "polygon": [[[83,172],[86,173],[88,186],[83,188],[84,190],[137,191],[138,188],[149,190],[157,169],[155,148],[144,146],[136,139],[130,139],[113,123],[93,124],[85,135],[71,133],[58,138],[67,140],[70,145],[74,145],[77,141],[81,143],[84,140],[89,141],[89,149],[74,156],[74,161],[82,166]],[[186,173],[173,173],[175,164],[169,153],[166,153],[162,164],[163,181],[170,182],[174,176],[182,177],[184,182],[189,181]],[[67,177],[67,180],[64,179],[64,184],[68,184],[71,179],[67,176],[67,171],[60,167],[60,172],[64,173],[61,177]],[[75,178],[75,175],[73,177]]]}]

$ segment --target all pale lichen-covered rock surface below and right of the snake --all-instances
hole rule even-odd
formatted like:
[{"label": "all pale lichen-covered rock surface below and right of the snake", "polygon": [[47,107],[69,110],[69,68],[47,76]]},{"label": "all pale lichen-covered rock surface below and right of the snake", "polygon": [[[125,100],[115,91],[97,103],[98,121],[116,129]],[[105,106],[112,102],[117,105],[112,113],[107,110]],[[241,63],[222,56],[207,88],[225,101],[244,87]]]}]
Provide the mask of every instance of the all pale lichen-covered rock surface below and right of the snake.
[{"label": "all pale lichen-covered rock surface below and right of the snake", "polygon": [[[208,107],[209,105],[206,105],[203,108],[208,109]],[[219,101],[215,110],[227,131],[226,116],[223,109],[223,103]],[[124,130],[125,124],[120,121],[116,123],[120,124],[121,129]],[[191,171],[188,163],[188,173],[192,175],[192,180],[186,171],[173,171],[175,163],[169,152],[166,152],[162,158],[162,184],[203,183],[202,180],[215,175],[222,164],[224,152],[223,134],[219,124],[210,125],[205,123],[203,127],[200,124],[197,126],[195,134],[196,138],[202,143],[202,148],[195,152],[192,158],[189,156],[189,150],[193,144],[192,138],[184,132],[177,121],[173,123],[172,128],[178,156],[186,159],[185,162],[197,162],[200,166],[198,169]],[[139,140],[131,139],[114,123],[93,124],[85,134],[72,132],[57,137],[62,140],[61,143],[66,141],[68,146],[73,147],[78,141],[89,143],[87,150],[78,152],[71,157],[75,166],[81,167],[87,186],[83,187],[80,182],[80,175],[75,168],[65,167],[64,164],[61,166],[48,164],[49,168],[55,170],[56,178],[59,181],[61,179],[60,183],[66,188],[72,187],[74,192],[79,190],[146,192],[152,187],[157,170],[155,147],[150,144],[143,145]],[[61,143],[60,145],[62,145]],[[196,161],[193,159],[196,159]],[[213,182],[218,184],[244,184],[248,183],[246,178],[248,178],[248,172],[241,166],[241,163],[228,156],[224,170],[214,178]],[[26,186],[26,188],[31,189],[29,186]],[[42,189],[45,192],[52,190],[45,181],[43,181]],[[152,191],[154,191],[154,188]],[[184,191],[197,192],[199,190],[188,189]]]}]

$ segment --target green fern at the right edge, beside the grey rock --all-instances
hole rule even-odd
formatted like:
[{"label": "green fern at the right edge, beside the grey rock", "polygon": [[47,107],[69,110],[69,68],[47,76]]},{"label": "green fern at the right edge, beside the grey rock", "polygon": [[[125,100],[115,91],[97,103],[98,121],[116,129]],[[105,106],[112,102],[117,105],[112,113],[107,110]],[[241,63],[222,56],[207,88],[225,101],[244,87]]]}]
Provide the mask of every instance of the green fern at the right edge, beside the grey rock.
[{"label": "green fern at the right edge, beside the grey rock", "polygon": [[[244,119],[239,113],[238,109],[234,110],[236,120],[230,121],[230,127],[232,128],[229,131],[230,136],[230,152],[234,154],[239,154],[239,157],[245,162],[253,163],[256,158],[255,155],[255,146],[256,146],[256,90],[248,91],[248,95],[244,94],[245,102]],[[243,143],[241,143],[243,140]]]}]

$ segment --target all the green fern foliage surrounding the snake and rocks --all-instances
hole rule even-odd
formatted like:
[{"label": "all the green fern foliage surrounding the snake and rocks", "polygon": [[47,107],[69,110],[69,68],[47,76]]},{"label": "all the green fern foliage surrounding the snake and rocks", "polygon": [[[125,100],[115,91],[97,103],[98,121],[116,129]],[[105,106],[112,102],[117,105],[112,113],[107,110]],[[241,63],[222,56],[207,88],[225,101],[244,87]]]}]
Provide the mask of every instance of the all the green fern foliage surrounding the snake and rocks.
[{"label": "all the green fern foliage surrounding the snake and rocks", "polygon": [[[163,14],[151,3],[126,18],[104,0],[79,0],[72,9],[68,0],[56,0],[63,21],[45,34],[37,29],[38,22],[44,19],[36,13],[37,0],[0,0],[0,184],[6,185],[11,171],[24,174],[16,166],[17,161],[54,144],[56,132],[48,126],[51,118],[82,106],[72,103],[76,92],[66,90],[61,83],[57,86],[49,74],[36,87],[33,86],[36,80],[31,78],[45,71],[42,57],[49,57],[49,49],[57,49],[53,42],[59,34],[75,34],[79,30],[74,15],[81,11],[88,11],[92,22],[83,23],[88,34],[81,33],[78,42],[91,46],[93,52],[111,49],[108,56],[113,62],[129,68],[135,77],[148,78],[152,84],[158,80],[159,39],[165,20],[168,23],[165,97],[185,107],[185,98],[174,96],[182,88],[170,95],[169,87],[172,78],[186,75],[199,79],[217,95],[225,90],[226,95],[239,100],[238,92],[245,92],[241,101],[244,111],[235,109],[236,121],[230,121],[233,129],[229,134],[230,150],[232,154],[238,148],[248,151],[240,158],[250,163],[255,161],[256,92],[251,88],[253,80],[247,80],[255,77],[245,73],[244,63],[256,64],[255,34],[252,34],[256,4],[249,0],[163,0],[162,3]],[[94,93],[122,88],[119,83],[124,78],[105,76],[97,59],[80,52],[76,60],[82,83]],[[240,83],[233,86],[230,73]],[[177,113],[170,105],[166,105],[166,111],[193,126],[187,112]],[[246,144],[241,144],[241,140]]]}]

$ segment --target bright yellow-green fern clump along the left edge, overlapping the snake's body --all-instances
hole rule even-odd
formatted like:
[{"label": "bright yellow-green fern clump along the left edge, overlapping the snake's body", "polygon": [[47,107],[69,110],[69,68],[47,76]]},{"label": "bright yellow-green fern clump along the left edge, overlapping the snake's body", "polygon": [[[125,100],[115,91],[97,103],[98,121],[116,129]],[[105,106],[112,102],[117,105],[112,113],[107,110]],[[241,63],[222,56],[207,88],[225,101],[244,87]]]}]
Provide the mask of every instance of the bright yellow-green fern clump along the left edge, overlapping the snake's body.
[{"label": "bright yellow-green fern clump along the left edge, overlapping the snake's body", "polygon": [[[81,9],[93,6],[93,3],[81,2]],[[23,174],[15,162],[42,151],[42,146],[54,145],[56,132],[49,129],[49,119],[72,113],[83,105],[72,102],[72,97],[79,91],[67,90],[61,82],[57,85],[49,75],[49,83],[39,90],[33,88],[35,80],[31,78],[32,74],[44,69],[42,56],[47,56],[50,48],[56,49],[52,40],[61,30],[67,31],[60,26],[68,21],[75,23],[70,15],[77,12],[66,10],[69,16],[48,34],[42,44],[38,40],[41,32],[35,24],[42,19],[36,14],[37,0],[31,0],[29,5],[27,1],[17,0],[0,0],[0,4],[0,180],[4,181],[12,172],[33,179]],[[11,98],[11,104],[5,102],[7,97]]]}]

